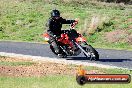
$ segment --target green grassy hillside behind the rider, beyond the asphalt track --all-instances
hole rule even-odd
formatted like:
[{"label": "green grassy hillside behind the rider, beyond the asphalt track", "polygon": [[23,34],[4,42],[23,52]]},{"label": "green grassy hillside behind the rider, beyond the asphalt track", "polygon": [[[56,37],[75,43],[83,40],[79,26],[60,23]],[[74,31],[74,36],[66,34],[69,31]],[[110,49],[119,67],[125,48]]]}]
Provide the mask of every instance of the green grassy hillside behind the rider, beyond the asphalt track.
[{"label": "green grassy hillside behind the rider, beyond the asphalt track", "polygon": [[[50,17],[51,10],[57,8],[64,18],[80,19],[76,30],[84,29],[85,19],[88,19],[87,27],[89,27],[93,16],[108,17],[110,21],[108,20],[105,25],[98,27],[99,33],[95,31],[93,36],[85,36],[89,38],[88,42],[98,48],[132,49],[129,43],[121,43],[120,41],[118,44],[108,43],[102,36],[106,32],[118,29],[127,30],[131,34],[129,26],[132,23],[125,22],[132,18],[132,6],[93,3],[91,1],[12,0],[9,2],[8,0],[1,0],[0,40],[43,42],[41,34],[46,31],[45,24]],[[63,28],[67,27],[63,26]]]}]

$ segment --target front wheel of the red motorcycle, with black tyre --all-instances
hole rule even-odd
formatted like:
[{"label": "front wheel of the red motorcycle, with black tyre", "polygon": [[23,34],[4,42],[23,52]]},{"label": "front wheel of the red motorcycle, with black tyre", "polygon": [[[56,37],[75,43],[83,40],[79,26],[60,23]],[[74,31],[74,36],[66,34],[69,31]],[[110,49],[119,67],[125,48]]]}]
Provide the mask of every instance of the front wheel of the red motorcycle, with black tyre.
[{"label": "front wheel of the red motorcycle, with black tyre", "polygon": [[87,58],[90,58],[90,60],[95,60],[95,61],[99,60],[98,52],[91,45],[84,47],[84,49],[87,53],[90,54],[90,57],[88,57],[86,54],[84,54]]}]

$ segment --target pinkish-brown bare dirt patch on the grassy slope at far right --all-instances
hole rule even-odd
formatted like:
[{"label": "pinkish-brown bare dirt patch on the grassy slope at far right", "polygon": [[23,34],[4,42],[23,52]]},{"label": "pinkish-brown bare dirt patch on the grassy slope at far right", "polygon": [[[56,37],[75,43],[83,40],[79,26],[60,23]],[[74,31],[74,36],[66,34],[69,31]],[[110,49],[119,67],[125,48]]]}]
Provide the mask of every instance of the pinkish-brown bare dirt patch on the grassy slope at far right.
[{"label": "pinkish-brown bare dirt patch on the grassy slope at far right", "polygon": [[105,38],[108,42],[124,42],[132,44],[132,35],[125,30],[115,30],[112,32],[107,32]]}]

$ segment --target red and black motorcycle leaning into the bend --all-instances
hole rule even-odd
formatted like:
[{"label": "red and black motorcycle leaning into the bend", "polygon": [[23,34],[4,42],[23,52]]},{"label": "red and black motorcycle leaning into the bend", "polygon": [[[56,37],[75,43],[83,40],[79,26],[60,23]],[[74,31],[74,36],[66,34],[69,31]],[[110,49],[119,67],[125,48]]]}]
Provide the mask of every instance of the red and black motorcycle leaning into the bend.
[{"label": "red and black motorcycle leaning into the bend", "polygon": [[[86,39],[74,29],[76,24],[77,22],[71,24],[69,30],[62,30],[61,37],[57,39],[62,57],[77,56],[83,52],[88,59],[99,60],[98,52],[91,45],[87,44]],[[44,33],[43,37],[45,41],[49,41],[48,33]],[[52,45],[50,45],[50,49],[57,55]]]}]

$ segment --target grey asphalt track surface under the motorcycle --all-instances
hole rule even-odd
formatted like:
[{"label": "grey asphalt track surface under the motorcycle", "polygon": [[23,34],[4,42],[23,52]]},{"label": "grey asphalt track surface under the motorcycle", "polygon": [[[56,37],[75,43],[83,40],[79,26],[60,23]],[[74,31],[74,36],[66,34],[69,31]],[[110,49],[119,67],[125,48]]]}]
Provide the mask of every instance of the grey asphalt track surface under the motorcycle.
[{"label": "grey asphalt track surface under the motorcycle", "polygon": [[[132,69],[132,51],[111,49],[96,49],[99,52],[99,61],[89,61],[83,54],[65,58],[82,62],[99,63]],[[0,52],[16,53],[32,56],[57,58],[49,49],[48,44],[0,41]],[[61,58],[58,58],[61,59]],[[64,59],[64,58],[63,58]]]}]

